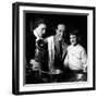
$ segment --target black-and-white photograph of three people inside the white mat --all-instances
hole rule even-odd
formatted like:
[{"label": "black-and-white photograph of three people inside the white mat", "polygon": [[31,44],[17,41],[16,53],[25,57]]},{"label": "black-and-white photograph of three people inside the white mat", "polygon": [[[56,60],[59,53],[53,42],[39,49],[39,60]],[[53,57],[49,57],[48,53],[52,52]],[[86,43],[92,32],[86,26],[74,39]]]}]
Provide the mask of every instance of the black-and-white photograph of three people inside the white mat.
[{"label": "black-and-white photograph of three people inside the white mat", "polygon": [[26,84],[87,81],[87,15],[28,12],[24,20]]}]

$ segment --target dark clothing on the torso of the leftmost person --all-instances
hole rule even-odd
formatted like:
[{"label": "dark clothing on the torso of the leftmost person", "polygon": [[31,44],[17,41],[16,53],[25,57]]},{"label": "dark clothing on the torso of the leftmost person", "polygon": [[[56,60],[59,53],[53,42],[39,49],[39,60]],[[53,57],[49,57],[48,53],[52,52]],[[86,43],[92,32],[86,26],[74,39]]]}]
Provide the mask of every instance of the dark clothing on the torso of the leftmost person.
[{"label": "dark clothing on the torso of the leftmost person", "polygon": [[48,70],[48,44],[45,39],[36,41],[35,60],[40,63],[41,71]]}]

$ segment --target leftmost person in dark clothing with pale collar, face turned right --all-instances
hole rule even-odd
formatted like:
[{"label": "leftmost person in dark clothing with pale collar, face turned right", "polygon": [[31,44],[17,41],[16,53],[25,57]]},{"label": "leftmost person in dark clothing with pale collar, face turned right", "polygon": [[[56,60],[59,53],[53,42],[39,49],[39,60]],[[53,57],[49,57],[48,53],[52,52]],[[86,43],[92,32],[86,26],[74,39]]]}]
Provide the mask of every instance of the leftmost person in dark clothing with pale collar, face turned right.
[{"label": "leftmost person in dark clothing with pale collar, face turned right", "polygon": [[[47,44],[44,39],[44,35],[46,33],[46,23],[44,20],[39,20],[36,23],[36,27],[34,29],[35,36],[35,54],[34,59],[30,60],[30,64],[33,64],[33,70],[45,69],[45,64],[47,64]],[[42,64],[42,65],[41,65]]]}]

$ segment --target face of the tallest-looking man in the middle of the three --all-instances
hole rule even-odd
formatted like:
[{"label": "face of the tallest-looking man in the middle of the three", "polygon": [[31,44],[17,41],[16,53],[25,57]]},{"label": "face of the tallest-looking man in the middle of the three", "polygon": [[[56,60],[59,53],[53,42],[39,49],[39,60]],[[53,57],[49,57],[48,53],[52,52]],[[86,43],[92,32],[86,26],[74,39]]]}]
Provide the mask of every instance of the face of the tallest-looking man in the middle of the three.
[{"label": "face of the tallest-looking man in the middle of the three", "polygon": [[58,28],[56,29],[56,32],[59,37],[59,40],[62,40],[63,34],[65,32],[65,26],[63,24],[58,25]]}]

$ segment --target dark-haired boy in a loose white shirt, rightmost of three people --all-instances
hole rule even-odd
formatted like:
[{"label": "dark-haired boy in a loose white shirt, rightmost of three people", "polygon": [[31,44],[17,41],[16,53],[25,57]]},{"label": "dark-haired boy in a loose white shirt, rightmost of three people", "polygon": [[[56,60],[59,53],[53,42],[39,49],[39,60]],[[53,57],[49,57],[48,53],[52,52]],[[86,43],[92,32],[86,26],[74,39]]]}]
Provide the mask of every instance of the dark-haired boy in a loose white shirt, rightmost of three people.
[{"label": "dark-haired boy in a loose white shirt, rightmost of three people", "polygon": [[87,70],[87,54],[79,45],[78,30],[70,34],[71,45],[68,47],[68,54],[64,59],[64,65],[69,68],[71,82],[85,81],[84,73]]}]

